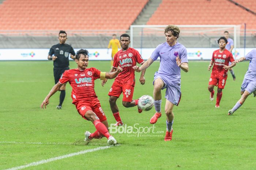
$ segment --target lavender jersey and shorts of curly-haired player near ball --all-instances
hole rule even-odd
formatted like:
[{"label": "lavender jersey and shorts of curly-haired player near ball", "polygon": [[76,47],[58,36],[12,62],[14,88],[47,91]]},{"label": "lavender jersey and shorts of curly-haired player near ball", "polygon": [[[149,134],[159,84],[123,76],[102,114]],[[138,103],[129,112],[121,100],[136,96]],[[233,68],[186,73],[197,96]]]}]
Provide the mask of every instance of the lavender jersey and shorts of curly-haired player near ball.
[{"label": "lavender jersey and shorts of curly-haired player near ball", "polygon": [[178,106],[181,98],[181,73],[180,67],[176,64],[177,55],[182,63],[188,63],[187,50],[182,44],[177,42],[174,46],[169,46],[165,42],[157,46],[150,58],[155,61],[160,57],[160,66],[155,73],[154,81],[157,78],[163,80],[165,86],[162,89],[166,88],[165,98]]}]

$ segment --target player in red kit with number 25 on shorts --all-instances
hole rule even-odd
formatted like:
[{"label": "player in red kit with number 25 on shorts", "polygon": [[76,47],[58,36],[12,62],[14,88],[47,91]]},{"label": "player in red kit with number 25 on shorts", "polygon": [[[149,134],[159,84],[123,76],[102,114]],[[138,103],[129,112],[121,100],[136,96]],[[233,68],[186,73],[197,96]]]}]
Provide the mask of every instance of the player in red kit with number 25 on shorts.
[{"label": "player in red kit with number 25 on shorts", "polygon": [[[117,67],[123,68],[123,72],[119,73],[115,79],[112,87],[109,90],[109,103],[110,108],[113,113],[114,118],[116,119],[116,126],[122,126],[123,121],[120,118],[119,110],[116,105],[116,100],[119,98],[120,94],[123,92],[123,105],[124,107],[133,107],[138,105],[138,99],[133,100],[133,90],[135,86],[135,73],[133,66],[136,63],[143,64],[144,60],[140,56],[139,52],[133,48],[129,48],[130,36],[128,34],[122,34],[120,36],[121,50],[119,50],[114,55],[113,68],[110,72],[116,71]],[[145,83],[145,70],[142,71],[140,75],[140,84]],[[107,82],[107,79],[102,81],[102,86]],[[138,108],[139,113],[142,112]]]}]

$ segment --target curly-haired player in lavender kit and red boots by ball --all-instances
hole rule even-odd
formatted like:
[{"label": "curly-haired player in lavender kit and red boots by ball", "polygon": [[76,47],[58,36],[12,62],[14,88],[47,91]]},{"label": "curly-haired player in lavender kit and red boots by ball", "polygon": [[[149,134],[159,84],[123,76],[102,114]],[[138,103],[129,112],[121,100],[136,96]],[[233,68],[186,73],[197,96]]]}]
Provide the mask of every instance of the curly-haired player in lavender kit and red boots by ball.
[{"label": "curly-haired player in lavender kit and red boots by ball", "polygon": [[148,68],[158,57],[160,67],[154,76],[154,105],[156,113],[150,119],[150,123],[154,124],[161,117],[161,90],[166,88],[165,98],[165,114],[166,114],[166,135],[165,141],[172,140],[173,125],[173,106],[179,104],[181,99],[181,73],[180,69],[188,72],[188,56],[186,48],[177,42],[180,35],[179,27],[168,25],[165,28],[166,42],[157,46],[151,57],[141,66],[134,66],[135,71],[140,72]]}]

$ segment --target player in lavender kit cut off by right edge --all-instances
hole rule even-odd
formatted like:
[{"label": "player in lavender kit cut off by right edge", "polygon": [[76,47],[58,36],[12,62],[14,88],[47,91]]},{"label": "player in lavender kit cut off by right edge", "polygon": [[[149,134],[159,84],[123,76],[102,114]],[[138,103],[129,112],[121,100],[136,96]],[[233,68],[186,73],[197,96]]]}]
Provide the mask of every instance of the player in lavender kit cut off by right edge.
[{"label": "player in lavender kit cut off by right edge", "polygon": [[236,105],[229,110],[229,115],[232,115],[242,104],[245,102],[245,99],[250,95],[254,94],[256,96],[256,50],[251,50],[245,57],[241,57],[236,60],[237,63],[244,60],[251,60],[248,71],[245,73],[244,81],[241,85],[241,95],[242,97],[237,101]]}]

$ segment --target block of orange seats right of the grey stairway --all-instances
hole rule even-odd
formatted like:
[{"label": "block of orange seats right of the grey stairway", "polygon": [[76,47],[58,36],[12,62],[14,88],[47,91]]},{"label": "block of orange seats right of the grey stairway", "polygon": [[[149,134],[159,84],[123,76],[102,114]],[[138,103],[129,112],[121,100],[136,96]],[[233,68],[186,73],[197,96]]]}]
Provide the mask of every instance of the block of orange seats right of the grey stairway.
[{"label": "block of orange seats right of the grey stairway", "polygon": [[[256,11],[255,0],[234,0],[241,5]],[[221,4],[221,5],[220,5]],[[174,16],[165,11],[177,10]],[[167,24],[243,24],[247,29],[256,29],[256,16],[223,0],[162,0],[157,10],[148,20],[148,25]]]}]

